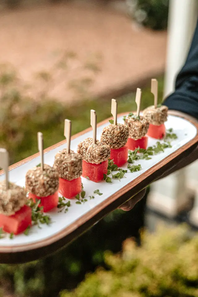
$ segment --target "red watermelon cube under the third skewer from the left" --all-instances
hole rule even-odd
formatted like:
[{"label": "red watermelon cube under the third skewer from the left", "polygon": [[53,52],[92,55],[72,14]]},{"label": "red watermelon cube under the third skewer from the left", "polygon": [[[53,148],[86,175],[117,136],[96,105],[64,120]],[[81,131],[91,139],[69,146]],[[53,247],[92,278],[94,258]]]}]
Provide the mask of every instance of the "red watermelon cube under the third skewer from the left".
[{"label": "red watermelon cube under the third skewer from the left", "polygon": [[65,198],[74,199],[82,191],[81,178],[67,180],[59,178],[59,193]]}]

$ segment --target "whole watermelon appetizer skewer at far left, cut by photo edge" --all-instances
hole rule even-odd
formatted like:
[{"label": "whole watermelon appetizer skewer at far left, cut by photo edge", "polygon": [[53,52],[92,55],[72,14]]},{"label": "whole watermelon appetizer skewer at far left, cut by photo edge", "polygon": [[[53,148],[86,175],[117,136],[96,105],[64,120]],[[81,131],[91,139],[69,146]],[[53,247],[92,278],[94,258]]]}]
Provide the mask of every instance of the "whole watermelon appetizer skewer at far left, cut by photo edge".
[{"label": "whole watermelon appetizer skewer at far left, cut by photo edge", "polygon": [[25,205],[28,200],[26,190],[8,183],[8,164],[6,149],[0,149],[0,167],[6,174],[6,179],[0,182],[0,228],[17,235],[32,225],[32,209]]}]

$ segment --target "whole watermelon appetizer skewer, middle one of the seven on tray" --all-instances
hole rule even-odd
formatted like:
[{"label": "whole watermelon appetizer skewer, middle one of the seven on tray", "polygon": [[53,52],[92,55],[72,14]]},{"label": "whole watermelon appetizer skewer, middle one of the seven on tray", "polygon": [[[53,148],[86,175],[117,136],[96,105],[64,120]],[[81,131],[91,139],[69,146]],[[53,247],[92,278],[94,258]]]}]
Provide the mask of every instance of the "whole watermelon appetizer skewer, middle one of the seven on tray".
[{"label": "whole watermelon appetizer skewer, middle one of the seven on tray", "polygon": [[97,183],[107,174],[110,147],[96,140],[97,115],[91,110],[91,126],[93,128],[93,139],[88,137],[78,144],[77,153],[83,158],[82,176]]}]

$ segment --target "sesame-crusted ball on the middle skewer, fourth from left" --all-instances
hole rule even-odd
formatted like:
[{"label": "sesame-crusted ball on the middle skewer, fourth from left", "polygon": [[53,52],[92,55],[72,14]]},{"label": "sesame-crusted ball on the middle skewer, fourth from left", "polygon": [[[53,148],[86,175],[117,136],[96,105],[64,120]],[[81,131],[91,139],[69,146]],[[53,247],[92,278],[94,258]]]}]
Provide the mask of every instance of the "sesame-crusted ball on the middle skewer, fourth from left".
[{"label": "sesame-crusted ball on the middle skewer, fourth from left", "polygon": [[80,154],[84,161],[92,164],[99,164],[110,157],[110,147],[96,140],[93,144],[93,138],[88,137],[78,144],[77,153]]}]

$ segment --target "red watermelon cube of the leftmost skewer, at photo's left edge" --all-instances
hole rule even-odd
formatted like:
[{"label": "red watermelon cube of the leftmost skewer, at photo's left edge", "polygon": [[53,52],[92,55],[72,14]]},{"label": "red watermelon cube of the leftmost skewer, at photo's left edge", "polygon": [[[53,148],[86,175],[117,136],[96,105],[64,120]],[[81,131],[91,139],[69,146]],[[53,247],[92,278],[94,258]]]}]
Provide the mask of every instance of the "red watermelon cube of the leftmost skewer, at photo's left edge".
[{"label": "red watermelon cube of the leftmost skewer, at photo's left edge", "polygon": [[24,232],[28,226],[32,225],[32,209],[24,205],[15,214],[6,216],[0,214],[0,228],[7,233],[15,235]]}]

